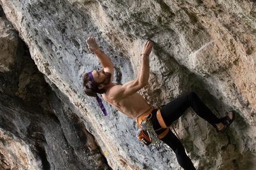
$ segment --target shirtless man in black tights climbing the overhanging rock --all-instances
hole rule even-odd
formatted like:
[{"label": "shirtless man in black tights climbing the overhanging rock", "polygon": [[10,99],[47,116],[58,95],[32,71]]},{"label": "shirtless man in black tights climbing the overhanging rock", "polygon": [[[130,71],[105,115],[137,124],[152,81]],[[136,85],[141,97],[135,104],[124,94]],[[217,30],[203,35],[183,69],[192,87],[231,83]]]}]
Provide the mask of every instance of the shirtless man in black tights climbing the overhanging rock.
[{"label": "shirtless man in black tights climbing the overhanging rock", "polygon": [[[230,111],[226,117],[217,118],[209,108],[198,98],[194,92],[188,92],[164,105],[160,110],[152,108],[138,93],[139,89],[148,85],[149,79],[149,54],[154,44],[147,40],[142,47],[141,68],[135,80],[126,82],[123,85],[114,84],[113,81],[113,63],[110,58],[99,49],[94,37],[86,40],[90,52],[95,53],[101,63],[102,70],[92,70],[92,72],[83,75],[83,89],[91,97],[97,97],[101,94],[105,101],[113,105],[118,111],[135,119],[151,114],[151,122],[157,134],[167,131],[161,140],[173,149],[177,161],[183,169],[195,169],[191,159],[186,155],[185,149],[180,140],[168,130],[173,121],[177,120],[186,111],[192,107],[198,116],[204,118],[208,123],[216,128],[219,132],[224,132],[235,119],[235,112]],[[98,101],[99,102],[99,101]],[[100,104],[100,102],[99,102]],[[101,104],[100,104],[101,105]],[[102,108],[102,106],[101,106]],[[103,109],[102,109],[103,110]]]}]

